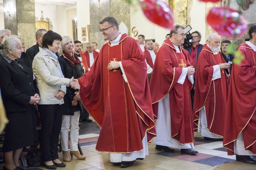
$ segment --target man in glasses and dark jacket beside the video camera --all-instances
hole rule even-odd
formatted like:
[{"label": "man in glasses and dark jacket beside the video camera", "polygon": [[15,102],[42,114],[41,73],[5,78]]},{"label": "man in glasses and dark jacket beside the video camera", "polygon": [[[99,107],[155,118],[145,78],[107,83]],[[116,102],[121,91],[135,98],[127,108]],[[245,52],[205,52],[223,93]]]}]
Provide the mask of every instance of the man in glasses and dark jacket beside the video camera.
[{"label": "man in glasses and dark jacket beside the video camera", "polygon": [[[189,52],[189,55],[191,59],[194,62],[194,68],[196,69],[197,67],[197,60],[199,53],[201,52],[203,45],[199,44],[201,40],[201,34],[198,31],[194,31],[192,34],[192,45],[190,47],[185,47],[184,49]],[[194,74],[194,82],[196,82],[196,73]],[[191,97],[191,105],[193,108],[193,103],[194,103],[194,95],[195,95],[195,84],[194,87],[190,90],[190,97]]]}]

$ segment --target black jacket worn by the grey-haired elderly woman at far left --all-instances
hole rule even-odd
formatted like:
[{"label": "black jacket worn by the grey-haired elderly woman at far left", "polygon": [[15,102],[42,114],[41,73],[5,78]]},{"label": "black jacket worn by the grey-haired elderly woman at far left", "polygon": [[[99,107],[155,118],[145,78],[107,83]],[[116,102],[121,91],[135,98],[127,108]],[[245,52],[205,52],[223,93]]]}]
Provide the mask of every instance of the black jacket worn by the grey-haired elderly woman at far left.
[{"label": "black jacket worn by the grey-haired elderly woman at far left", "polygon": [[29,104],[30,96],[39,94],[32,69],[23,60],[19,64],[25,70],[14,61],[9,64],[3,57],[0,58],[0,87],[6,112],[28,111],[34,107]]}]

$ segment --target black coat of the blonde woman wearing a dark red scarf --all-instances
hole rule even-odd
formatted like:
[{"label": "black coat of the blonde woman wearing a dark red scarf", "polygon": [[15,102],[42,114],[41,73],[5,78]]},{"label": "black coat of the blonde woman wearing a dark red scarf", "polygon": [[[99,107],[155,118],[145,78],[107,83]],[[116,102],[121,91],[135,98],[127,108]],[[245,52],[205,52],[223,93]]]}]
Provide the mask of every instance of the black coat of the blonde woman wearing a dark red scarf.
[{"label": "black coat of the blonde woman wearing a dark red scarf", "polygon": [[[75,76],[76,74],[74,74],[74,73],[76,72],[76,70],[68,63],[68,61],[63,57],[63,55],[58,57],[58,61],[59,61],[60,67],[61,67],[61,71],[65,78],[68,78],[68,79],[71,79],[72,77],[74,77],[74,79],[79,78],[79,77]],[[79,68],[82,73],[81,64],[79,64]],[[71,103],[71,101],[73,101],[73,97],[75,96],[75,94],[74,94],[75,91],[78,91],[78,90],[74,90],[73,88],[71,88],[71,86],[67,87],[66,95],[63,98],[64,99],[63,115],[74,115],[75,111],[80,110],[79,102],[77,103],[76,106],[72,106],[72,103]]]}]

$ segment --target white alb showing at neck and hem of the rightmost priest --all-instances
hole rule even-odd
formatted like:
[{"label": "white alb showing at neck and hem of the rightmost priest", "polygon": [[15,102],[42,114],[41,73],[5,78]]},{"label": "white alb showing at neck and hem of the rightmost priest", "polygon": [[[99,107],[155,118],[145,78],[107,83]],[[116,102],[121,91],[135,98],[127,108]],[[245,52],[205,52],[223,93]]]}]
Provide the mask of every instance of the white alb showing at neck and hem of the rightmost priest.
[{"label": "white alb showing at neck and hem of the rightmost priest", "polygon": [[[250,46],[253,51],[256,51],[256,46],[250,41],[245,41],[245,43]],[[245,150],[242,132],[238,135],[237,140],[234,141],[234,153],[238,155],[254,155],[252,152]]]}]

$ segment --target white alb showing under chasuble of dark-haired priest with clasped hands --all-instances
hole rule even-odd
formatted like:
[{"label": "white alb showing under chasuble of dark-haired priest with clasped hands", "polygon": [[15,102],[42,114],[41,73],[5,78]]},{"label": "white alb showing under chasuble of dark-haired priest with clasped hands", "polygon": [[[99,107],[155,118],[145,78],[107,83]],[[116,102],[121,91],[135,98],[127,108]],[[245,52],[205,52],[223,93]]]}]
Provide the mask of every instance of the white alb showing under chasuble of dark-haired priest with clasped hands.
[{"label": "white alb showing under chasuble of dark-haired priest with clasped hands", "polygon": [[[178,46],[173,46],[176,49],[177,53],[180,53]],[[183,84],[187,76],[187,68],[182,68],[182,73],[177,81],[179,84]],[[193,75],[188,76],[188,80],[193,84],[194,78]],[[179,141],[171,138],[171,112],[170,112],[170,96],[166,95],[162,100],[158,102],[158,118],[155,121],[156,123],[156,134],[154,138],[154,143],[156,145],[167,146],[171,148],[179,149],[194,149],[194,143],[189,143],[181,145]]]}]

